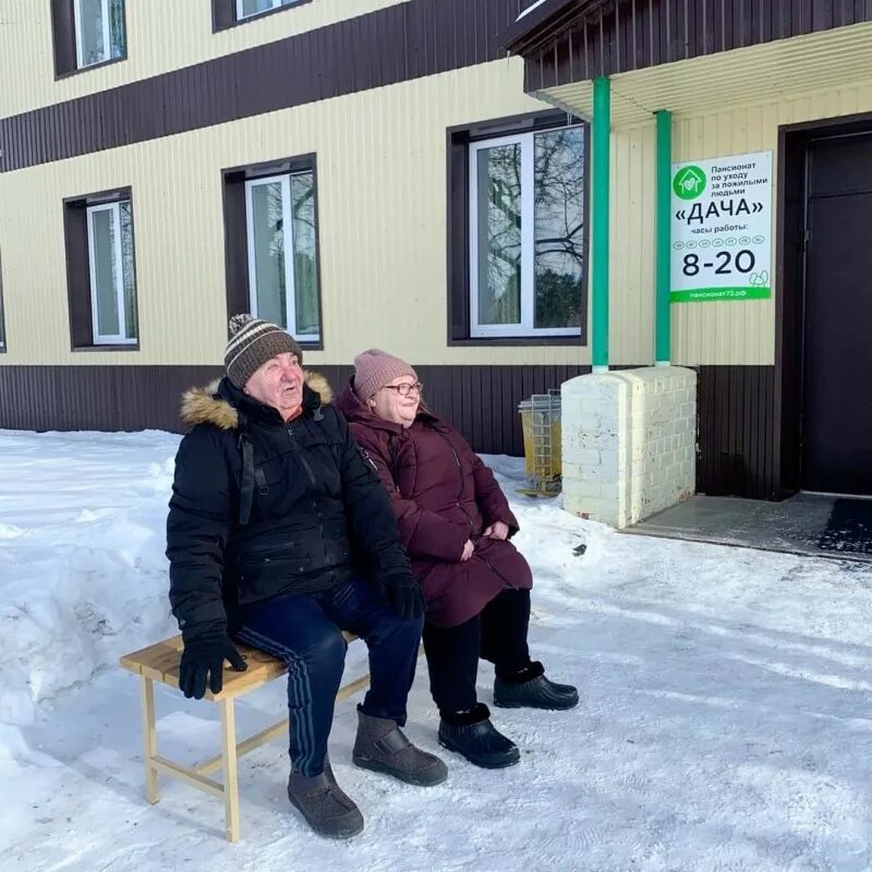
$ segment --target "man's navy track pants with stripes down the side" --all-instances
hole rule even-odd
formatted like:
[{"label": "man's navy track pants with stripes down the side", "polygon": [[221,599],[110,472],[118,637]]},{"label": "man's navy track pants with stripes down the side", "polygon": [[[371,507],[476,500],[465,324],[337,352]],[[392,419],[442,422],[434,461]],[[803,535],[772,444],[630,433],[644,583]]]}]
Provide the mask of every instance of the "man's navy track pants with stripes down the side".
[{"label": "man's navy track pants with stripes down the side", "polygon": [[237,638],[288,664],[290,755],[303,775],[319,775],[342,669],[346,640],[360,635],[370,649],[370,690],[361,705],[374,717],[405,723],[423,619],[404,620],[373,585],[350,581],[311,595],[282,596],[252,609]]}]

